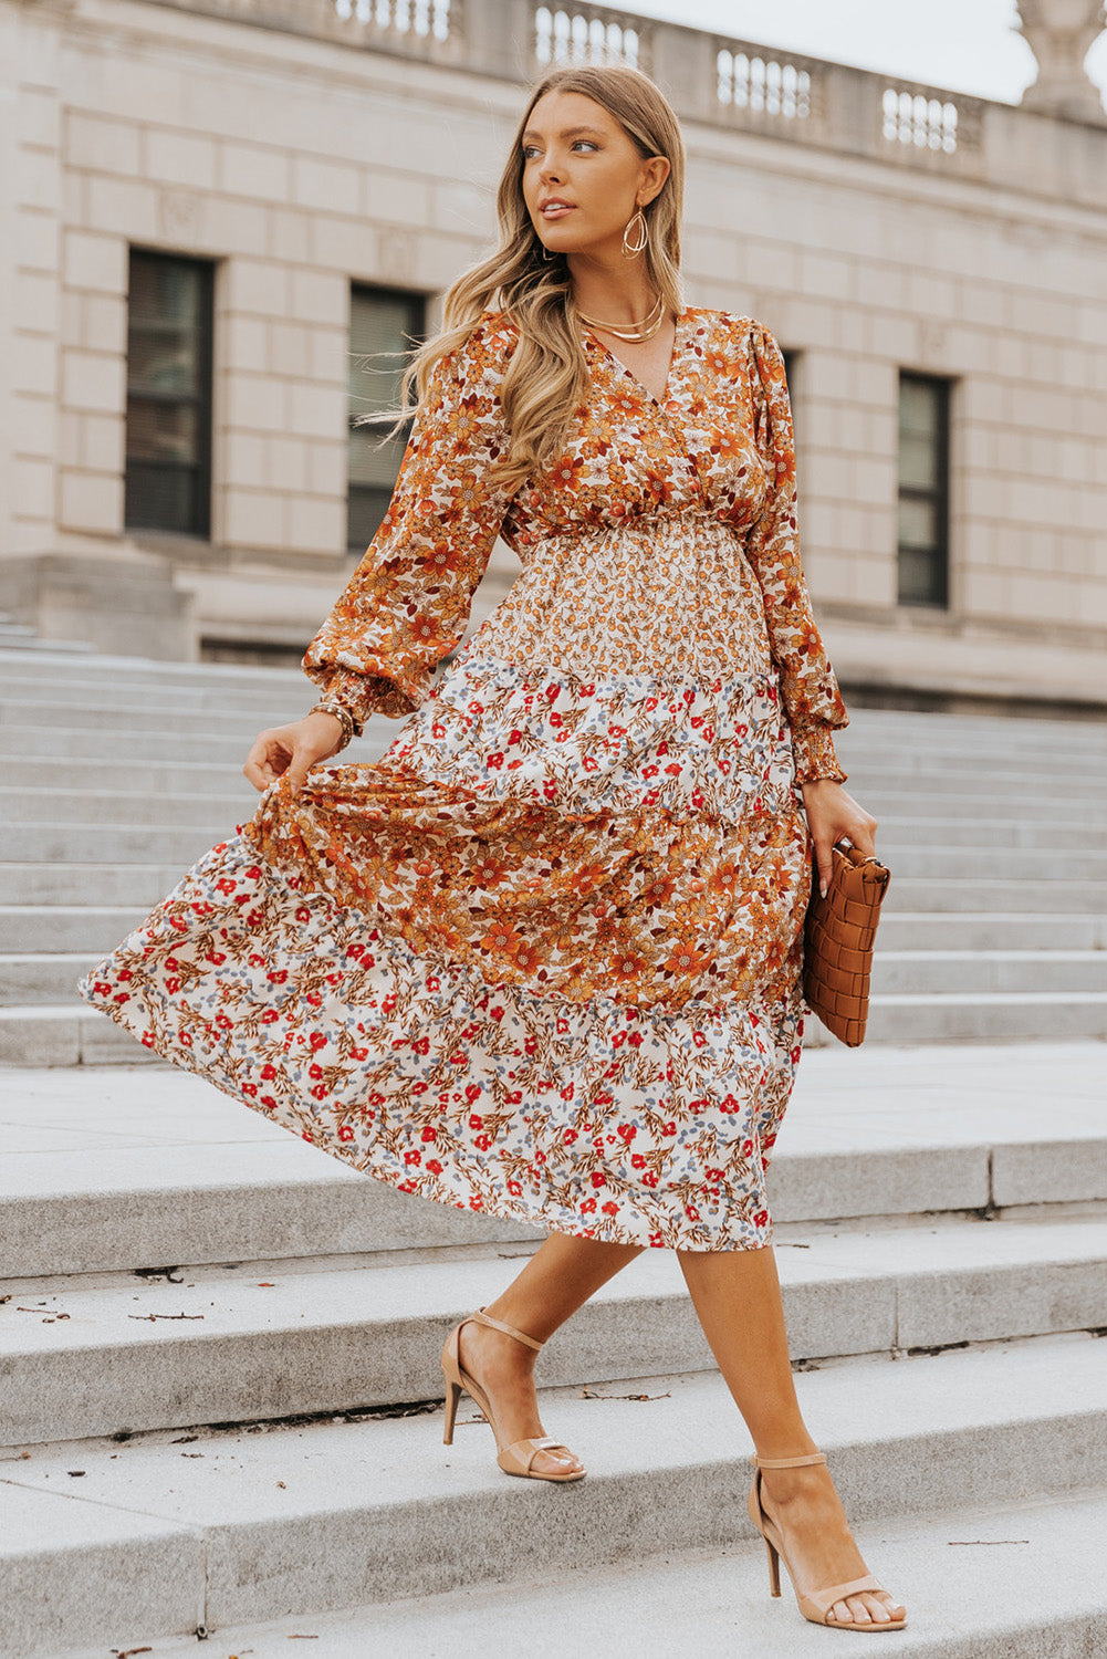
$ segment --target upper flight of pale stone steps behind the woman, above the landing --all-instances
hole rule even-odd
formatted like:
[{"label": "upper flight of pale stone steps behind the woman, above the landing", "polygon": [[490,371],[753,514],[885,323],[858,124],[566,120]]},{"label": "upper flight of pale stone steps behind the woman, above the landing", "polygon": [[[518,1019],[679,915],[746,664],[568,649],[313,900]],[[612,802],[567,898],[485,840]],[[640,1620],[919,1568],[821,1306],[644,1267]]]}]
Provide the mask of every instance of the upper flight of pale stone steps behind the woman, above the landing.
[{"label": "upper flight of pale stone steps behind the woman, above the landing", "polygon": [[[309,690],[0,645],[0,1062],[139,1058],[75,982],[252,813],[249,743]],[[893,873],[866,1040],[1107,1035],[1107,728],[858,708],[840,753]]]}]

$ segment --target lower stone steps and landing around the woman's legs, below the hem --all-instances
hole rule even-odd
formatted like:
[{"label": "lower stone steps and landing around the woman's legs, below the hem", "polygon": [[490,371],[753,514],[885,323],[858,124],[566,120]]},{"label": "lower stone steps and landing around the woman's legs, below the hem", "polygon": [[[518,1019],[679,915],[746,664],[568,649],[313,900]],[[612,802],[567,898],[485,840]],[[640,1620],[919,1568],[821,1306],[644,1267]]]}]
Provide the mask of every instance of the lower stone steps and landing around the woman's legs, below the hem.
[{"label": "lower stone steps and landing around the woman's legs, below the hem", "polygon": [[[772,1176],[792,1352],[911,1608],[896,1651],[1104,1651],[1100,1060],[885,1044],[800,1067]],[[212,1659],[289,1636],[476,1659],[519,1651],[495,1634],[519,1614],[551,1659],[813,1652],[767,1596],[747,1435],[669,1253],[541,1357],[589,1478],[511,1481],[475,1410],[441,1447],[436,1355],[534,1233],[403,1198],[179,1072],[2,1075],[8,1659],[183,1654],[196,1631]]]}]

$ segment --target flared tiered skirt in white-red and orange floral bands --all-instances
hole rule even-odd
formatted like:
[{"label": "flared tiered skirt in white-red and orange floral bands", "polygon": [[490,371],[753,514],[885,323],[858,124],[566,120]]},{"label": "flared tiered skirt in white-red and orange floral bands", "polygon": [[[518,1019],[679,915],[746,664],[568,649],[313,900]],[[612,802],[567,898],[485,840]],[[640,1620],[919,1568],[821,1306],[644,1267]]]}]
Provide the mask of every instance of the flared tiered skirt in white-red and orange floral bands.
[{"label": "flared tiered skirt in white-red and orange floral bands", "polygon": [[470,652],[380,761],[274,785],[80,989],[400,1191],[762,1248],[808,891],[773,675]]}]

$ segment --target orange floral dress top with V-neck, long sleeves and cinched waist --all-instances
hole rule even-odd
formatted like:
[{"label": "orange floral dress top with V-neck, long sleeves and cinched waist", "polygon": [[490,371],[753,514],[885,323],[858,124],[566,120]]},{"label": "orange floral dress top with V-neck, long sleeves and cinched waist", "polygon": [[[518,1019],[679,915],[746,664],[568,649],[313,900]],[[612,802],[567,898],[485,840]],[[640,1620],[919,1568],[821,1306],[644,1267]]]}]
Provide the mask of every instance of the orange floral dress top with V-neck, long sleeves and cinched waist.
[{"label": "orange floral dress top with V-neck, long sleeves and cinched waist", "polygon": [[461,639],[496,536],[523,564],[470,650],[523,669],[778,675],[797,780],[843,780],[848,723],[800,564],[780,348],[762,324],[687,309],[661,400],[593,333],[563,455],[496,486],[500,382],[516,330],[486,314],[436,365],[385,521],[304,667],[362,718],[405,715]]}]

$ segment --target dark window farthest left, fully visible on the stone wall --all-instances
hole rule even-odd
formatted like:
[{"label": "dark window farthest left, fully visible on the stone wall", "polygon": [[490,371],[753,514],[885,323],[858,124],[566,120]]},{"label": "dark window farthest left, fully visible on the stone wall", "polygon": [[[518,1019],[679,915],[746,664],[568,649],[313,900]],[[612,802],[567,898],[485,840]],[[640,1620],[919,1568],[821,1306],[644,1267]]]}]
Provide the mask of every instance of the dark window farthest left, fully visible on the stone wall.
[{"label": "dark window farthest left, fully visible on the stone wall", "polygon": [[131,249],[126,524],[211,533],[211,295],[199,259]]}]

